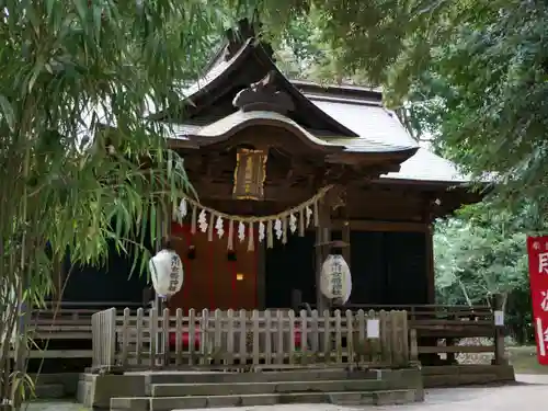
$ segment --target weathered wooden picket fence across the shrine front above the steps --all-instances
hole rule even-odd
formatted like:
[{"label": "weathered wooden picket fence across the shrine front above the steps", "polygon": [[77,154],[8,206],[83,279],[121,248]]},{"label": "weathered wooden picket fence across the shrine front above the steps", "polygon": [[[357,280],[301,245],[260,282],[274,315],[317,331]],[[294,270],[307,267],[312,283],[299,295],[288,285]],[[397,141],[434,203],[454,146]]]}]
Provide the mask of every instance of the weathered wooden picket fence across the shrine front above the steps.
[{"label": "weathered wooden picket fence across the shrine front above the steps", "polygon": [[95,316],[102,320],[93,324],[93,366],[102,368],[402,367],[416,358],[406,311],[178,309],[171,316],[126,308]]}]

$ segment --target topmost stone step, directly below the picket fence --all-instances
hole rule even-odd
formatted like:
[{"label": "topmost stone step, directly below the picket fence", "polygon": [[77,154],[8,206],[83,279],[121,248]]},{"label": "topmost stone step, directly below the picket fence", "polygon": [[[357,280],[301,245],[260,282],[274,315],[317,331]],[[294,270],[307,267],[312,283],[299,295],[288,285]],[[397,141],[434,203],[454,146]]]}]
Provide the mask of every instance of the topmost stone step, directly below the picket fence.
[{"label": "topmost stone step, directly below the picket fence", "polygon": [[[388,374],[387,374],[388,373]],[[159,372],[146,375],[146,383],[155,384],[222,384],[222,383],[277,383],[335,379],[380,379],[391,370],[343,370],[343,369],[301,369],[261,373],[219,373],[219,372]]]}]

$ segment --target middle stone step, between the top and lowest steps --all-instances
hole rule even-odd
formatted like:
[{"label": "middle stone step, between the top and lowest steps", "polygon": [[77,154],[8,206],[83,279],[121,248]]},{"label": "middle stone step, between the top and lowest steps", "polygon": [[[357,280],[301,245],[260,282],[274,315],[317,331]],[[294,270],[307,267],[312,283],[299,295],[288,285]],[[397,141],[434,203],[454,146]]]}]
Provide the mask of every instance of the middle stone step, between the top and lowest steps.
[{"label": "middle stone step, between the top and lowest steps", "polygon": [[[398,383],[398,381],[397,381]],[[393,384],[376,379],[338,379],[275,383],[225,383],[225,384],[155,384],[151,386],[152,397],[185,396],[235,396],[254,393],[283,392],[338,392],[338,391],[375,391],[400,389],[408,384]],[[396,386],[395,386],[396,385]]]}]

